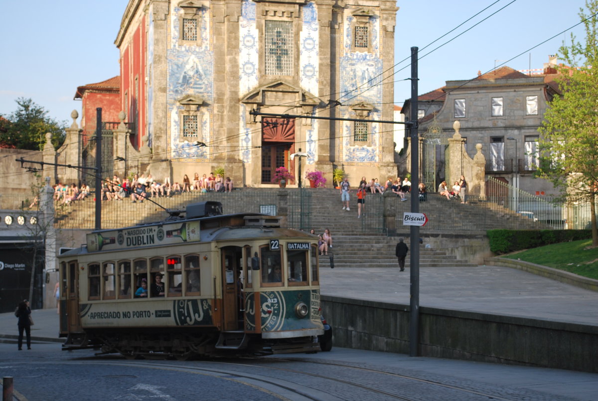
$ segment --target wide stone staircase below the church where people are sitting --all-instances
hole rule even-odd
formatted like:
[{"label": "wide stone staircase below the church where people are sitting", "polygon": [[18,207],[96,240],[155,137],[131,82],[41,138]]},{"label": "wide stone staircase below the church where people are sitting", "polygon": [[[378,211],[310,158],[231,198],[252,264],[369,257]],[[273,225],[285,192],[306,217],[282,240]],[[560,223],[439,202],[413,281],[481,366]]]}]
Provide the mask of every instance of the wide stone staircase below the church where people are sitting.
[{"label": "wide stone staircase below the church where people are sitting", "polygon": [[[287,188],[289,191],[289,208],[297,206],[298,189]],[[316,232],[331,231],[334,246],[330,256],[334,256],[335,267],[397,267],[395,245],[397,237],[388,237],[382,233],[383,199],[382,195],[367,195],[365,216],[357,218],[355,193],[352,193],[350,210],[342,210],[338,189],[317,188],[309,191],[311,214],[304,219],[303,229],[310,228]],[[259,212],[260,205],[277,204],[280,200],[278,189],[243,188],[232,194],[196,192],[174,195],[170,198],[153,198],[158,204],[149,200],[144,203],[131,203],[128,198],[123,201],[104,201],[102,203],[102,226],[115,228],[130,226],[145,222],[160,221],[166,218],[166,209],[185,209],[188,203],[205,200],[218,200],[223,204],[224,213]],[[291,196],[292,195],[292,196]],[[294,200],[292,200],[293,198]],[[410,211],[410,201],[401,202],[397,197],[391,197],[390,202],[396,209],[396,231],[398,235],[409,240],[409,226],[401,224],[403,212]],[[277,204],[277,207],[284,205]],[[429,194],[426,202],[419,203],[420,212],[426,213],[429,222],[420,227],[420,235],[434,235],[438,233],[459,233],[485,235],[487,229],[493,228],[542,228],[537,222],[512,213],[507,209],[496,208],[492,204],[472,200],[468,204],[459,201],[448,201],[437,194]],[[495,205],[494,205],[495,206]],[[68,212],[63,223],[79,222],[80,228],[93,228],[94,202],[93,200],[79,201],[66,208]],[[85,224],[83,224],[83,222]],[[295,226],[294,228],[300,228]],[[411,247],[411,244],[409,244]],[[322,267],[329,266],[329,259],[321,257]],[[409,257],[406,266],[409,266]],[[459,260],[455,256],[447,255],[439,249],[420,246],[420,267],[449,267],[474,266],[467,261]]]}]

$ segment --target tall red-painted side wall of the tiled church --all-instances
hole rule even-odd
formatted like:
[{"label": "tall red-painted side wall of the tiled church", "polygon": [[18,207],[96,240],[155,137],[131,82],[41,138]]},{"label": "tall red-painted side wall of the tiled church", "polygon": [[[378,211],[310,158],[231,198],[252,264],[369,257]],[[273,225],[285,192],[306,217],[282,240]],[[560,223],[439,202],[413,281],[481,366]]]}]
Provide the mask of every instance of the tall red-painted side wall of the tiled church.
[{"label": "tall red-painted side wall of the tiled church", "polygon": [[147,32],[145,17],[135,29],[131,39],[121,45],[120,77],[121,104],[127,113],[127,121],[135,123],[135,135],[131,142],[136,148],[141,146],[141,137],[147,135],[146,82],[147,71]]}]

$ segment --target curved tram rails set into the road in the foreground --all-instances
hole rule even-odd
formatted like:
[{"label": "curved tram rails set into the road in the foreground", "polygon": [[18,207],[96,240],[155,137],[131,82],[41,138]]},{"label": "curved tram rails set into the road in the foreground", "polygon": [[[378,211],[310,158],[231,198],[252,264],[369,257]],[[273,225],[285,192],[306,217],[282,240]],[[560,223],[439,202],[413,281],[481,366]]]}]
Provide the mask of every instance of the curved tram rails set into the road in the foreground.
[{"label": "curved tram rails set into the road in the foreground", "polygon": [[[439,381],[434,381],[430,379],[420,378],[412,375],[404,375],[404,374],[396,374],[393,372],[381,371],[378,369],[371,369],[371,368],[363,368],[360,366],[352,366],[346,365],[343,363],[334,363],[334,362],[325,362],[325,361],[314,361],[314,360],[301,360],[301,359],[251,359],[248,360],[255,360],[256,362],[300,362],[305,364],[316,364],[316,365],[324,365],[324,366],[334,366],[340,369],[349,369],[352,371],[357,371],[359,373],[370,374],[370,375],[382,375],[385,378],[380,378],[374,382],[376,383],[383,383],[384,385],[389,384],[389,379],[401,379],[407,380],[411,382],[417,382],[417,384],[424,385],[424,386],[432,386],[440,388],[440,390],[449,390],[454,391],[456,393],[460,393],[463,396],[467,395],[467,399],[493,399],[493,400],[501,400],[501,401],[514,401],[517,398],[505,398],[498,394],[489,394],[484,393],[482,391],[472,390],[471,388],[460,387],[453,384],[446,384]],[[231,381],[240,382],[246,385],[251,385],[255,388],[260,388],[262,391],[266,391],[267,393],[276,395],[281,397],[282,399],[288,399],[293,401],[303,401],[303,400],[311,400],[311,401],[335,401],[335,400],[346,400],[344,397],[339,397],[338,394],[335,394],[334,391],[329,390],[335,385],[346,386],[343,390],[346,393],[355,393],[355,391],[361,391],[362,393],[367,394],[370,399],[389,399],[389,400],[403,400],[403,401],[421,401],[425,399],[430,399],[429,394],[424,396],[419,394],[417,396],[410,396],[410,395],[402,395],[397,393],[392,393],[390,391],[383,390],[380,387],[374,387],[372,385],[365,385],[361,384],[356,381],[351,381],[349,379],[343,379],[337,376],[332,375],[322,375],[318,373],[308,372],[300,369],[292,369],[292,368],[281,368],[277,366],[270,366],[270,365],[257,365],[252,363],[239,363],[239,362],[227,362],[227,361],[208,361],[208,362],[200,362],[204,365],[224,365],[230,366],[231,368],[216,368],[215,366],[181,366],[175,364],[164,364],[164,363],[152,363],[152,362],[145,362],[145,361],[71,361],[71,362],[63,362],[63,363],[93,363],[93,364],[102,364],[102,365],[112,365],[112,366],[130,366],[130,367],[138,367],[138,368],[148,368],[148,369],[158,369],[164,371],[176,371],[176,372],[185,372],[191,374],[202,374],[206,376],[212,376],[214,378],[220,379],[227,379]],[[260,375],[260,374],[253,374],[246,371],[240,371],[239,369],[234,368],[243,368],[243,369],[256,369],[259,368],[263,371],[274,371],[283,374],[285,377],[274,377],[271,374]],[[344,372],[346,374],[346,372]],[[327,385],[317,385],[314,386],[312,384],[304,384],[303,381],[298,379],[299,375],[301,376],[310,376],[311,378],[315,378],[326,382]],[[289,379],[292,377],[292,379]],[[396,385],[396,383],[395,383]],[[413,391],[413,390],[412,390]],[[408,391],[405,391],[408,392]],[[364,394],[364,395],[365,395]],[[356,397],[355,399],[359,399]],[[438,399],[437,397],[435,399]],[[448,398],[445,398],[448,399]],[[464,397],[459,397],[454,394],[451,396],[451,399],[464,399]]]}]

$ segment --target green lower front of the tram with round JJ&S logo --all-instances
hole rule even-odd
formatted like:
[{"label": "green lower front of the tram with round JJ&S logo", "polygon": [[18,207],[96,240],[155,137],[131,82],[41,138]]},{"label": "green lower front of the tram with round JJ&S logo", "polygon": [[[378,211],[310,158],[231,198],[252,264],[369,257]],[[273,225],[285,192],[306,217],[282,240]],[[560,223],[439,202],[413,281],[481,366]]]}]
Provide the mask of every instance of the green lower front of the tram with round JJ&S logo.
[{"label": "green lower front of the tram with round JJ&S logo", "polygon": [[[295,305],[300,301],[310,310],[304,319],[295,314]],[[263,290],[257,307],[252,293],[245,299],[245,329],[255,331],[256,319],[263,333],[306,329],[309,328],[307,322],[312,323],[314,329],[322,329],[319,308],[320,293],[317,290]]]}]

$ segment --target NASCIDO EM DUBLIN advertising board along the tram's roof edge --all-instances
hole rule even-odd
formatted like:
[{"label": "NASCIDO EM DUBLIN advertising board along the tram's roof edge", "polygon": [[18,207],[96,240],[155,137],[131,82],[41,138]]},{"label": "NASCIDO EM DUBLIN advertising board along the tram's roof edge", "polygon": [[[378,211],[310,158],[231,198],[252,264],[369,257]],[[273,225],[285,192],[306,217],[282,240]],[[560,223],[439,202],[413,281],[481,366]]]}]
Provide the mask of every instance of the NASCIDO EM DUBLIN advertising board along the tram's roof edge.
[{"label": "NASCIDO EM DUBLIN advertising board along the tram's roof edge", "polygon": [[87,250],[127,249],[131,247],[180,244],[200,241],[199,221],[147,225],[87,234]]}]

